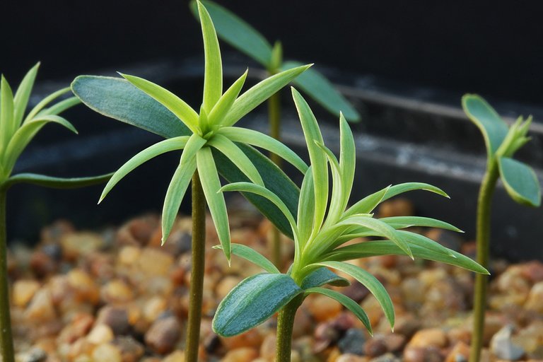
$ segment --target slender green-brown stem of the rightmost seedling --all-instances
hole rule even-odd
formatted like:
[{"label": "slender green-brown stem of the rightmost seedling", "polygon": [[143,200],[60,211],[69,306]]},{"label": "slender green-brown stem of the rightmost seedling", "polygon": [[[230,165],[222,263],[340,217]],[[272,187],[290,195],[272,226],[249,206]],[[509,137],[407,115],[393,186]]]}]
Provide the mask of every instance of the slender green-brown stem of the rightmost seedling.
[{"label": "slender green-brown stem of the rightmost seedling", "polygon": [[[492,195],[496,189],[499,171],[496,160],[491,160],[479,189],[477,200],[477,262],[488,268],[489,240],[490,240],[490,214]],[[483,346],[484,313],[486,310],[486,284],[489,276],[475,275],[475,293],[473,302],[473,332],[472,346],[469,352],[469,362],[479,362]]]}]

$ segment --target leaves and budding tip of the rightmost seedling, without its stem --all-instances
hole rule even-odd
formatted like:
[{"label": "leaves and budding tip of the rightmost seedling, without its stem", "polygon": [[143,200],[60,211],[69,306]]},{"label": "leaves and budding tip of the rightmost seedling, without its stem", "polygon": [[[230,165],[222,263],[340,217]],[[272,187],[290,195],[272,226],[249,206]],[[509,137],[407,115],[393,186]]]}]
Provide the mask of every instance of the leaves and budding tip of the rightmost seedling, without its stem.
[{"label": "leaves and budding tip of the rightmost seedling, without its stem", "polygon": [[479,95],[466,94],[462,97],[462,107],[469,119],[479,127],[486,142],[488,166],[497,164],[499,175],[509,196],[526,206],[541,204],[541,189],[537,177],[530,168],[517,160],[513,154],[530,140],[527,132],[532,117],[523,120],[519,117],[510,127],[500,118],[496,110]]}]

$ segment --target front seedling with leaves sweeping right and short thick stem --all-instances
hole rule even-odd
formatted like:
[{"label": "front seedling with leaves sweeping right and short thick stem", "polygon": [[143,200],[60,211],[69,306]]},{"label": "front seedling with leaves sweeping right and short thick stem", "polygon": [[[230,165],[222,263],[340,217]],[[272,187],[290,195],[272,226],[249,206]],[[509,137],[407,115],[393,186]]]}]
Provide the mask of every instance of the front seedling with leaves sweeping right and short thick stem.
[{"label": "front seedling with leaves sweeping right and short thick stem", "polygon": [[[281,199],[262,185],[236,182],[222,188],[223,191],[254,192],[267,197],[284,212],[294,235],[293,264],[288,273],[281,274],[268,259],[255,250],[244,245],[232,245],[234,255],[254,262],[267,272],[250,276],[235,286],[218,306],[213,320],[214,331],[230,337],[259,325],[279,310],[276,345],[276,361],[279,362],[290,361],[294,315],[310,293],[320,293],[337,300],[351,310],[371,333],[368,316],[358,303],[337,291],[322,288],[325,284],[348,284],[346,279],[340,278],[327,268],[349,274],[366,286],[380,303],[391,327],[394,326],[395,313],[387,291],[375,276],[346,263],[347,261],[375,255],[409,255],[411,258],[421,257],[488,274],[484,267],[472,259],[423,235],[402,230],[411,226],[429,226],[460,231],[449,223],[416,216],[373,217],[373,210],[380,202],[403,192],[425,189],[447,197],[447,194],[437,187],[424,183],[389,186],[347,208],[356,163],[354,139],[349,125],[343,115],[340,115],[341,152],[337,160],[324,145],[310,107],[294,89],[293,98],[311,160],[300,189],[297,221]],[[329,170],[332,173],[332,185],[329,185]],[[328,204],[330,189],[332,195]],[[380,240],[344,246],[349,240],[360,237]]]}]

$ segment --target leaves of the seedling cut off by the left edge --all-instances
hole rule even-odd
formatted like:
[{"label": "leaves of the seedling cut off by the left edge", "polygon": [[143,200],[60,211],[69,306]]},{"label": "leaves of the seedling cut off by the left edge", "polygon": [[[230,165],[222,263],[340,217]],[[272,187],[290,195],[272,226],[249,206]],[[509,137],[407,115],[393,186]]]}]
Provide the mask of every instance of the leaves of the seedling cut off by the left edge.
[{"label": "leaves of the seedling cut off by the left edge", "polygon": [[70,92],[70,88],[61,90],[48,95],[40,103],[28,112],[25,117],[25,111],[28,107],[28,100],[34,86],[37,75],[37,69],[40,63],[33,66],[24,76],[23,81],[18,86],[15,95],[11,91],[8,81],[2,75],[0,83],[0,186],[7,189],[18,183],[29,183],[44,187],[54,188],[73,188],[94,185],[107,181],[111,175],[101,175],[98,177],[83,178],[62,178],[50,177],[44,175],[35,175],[24,173],[11,175],[19,156],[25,150],[26,146],[32,141],[35,135],[46,124],[59,124],[77,133],[75,127],[59,114],[80,103],[76,97],[66,98],[57,103],[51,104],[58,98]]}]

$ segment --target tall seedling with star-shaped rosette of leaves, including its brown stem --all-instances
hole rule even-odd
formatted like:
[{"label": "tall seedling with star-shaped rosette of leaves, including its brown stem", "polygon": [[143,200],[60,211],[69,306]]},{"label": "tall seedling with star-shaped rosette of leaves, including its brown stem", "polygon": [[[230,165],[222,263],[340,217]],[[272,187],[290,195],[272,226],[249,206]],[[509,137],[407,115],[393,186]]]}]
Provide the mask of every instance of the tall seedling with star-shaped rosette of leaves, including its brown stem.
[{"label": "tall seedling with star-shaped rosette of leaves, including its brown stem", "polygon": [[[89,107],[105,115],[131,123],[162,136],[160,141],[122,165],[107,183],[100,201],[124,176],[141,163],[168,151],[183,150],[180,163],[166,192],[162,214],[162,242],[168,239],[175,217],[192,180],[192,274],[185,356],[196,361],[199,325],[202,315],[204,278],[205,205],[209,206],[218,238],[230,262],[228,214],[218,173],[227,180],[250,180],[274,188],[283,197],[297,195],[299,190],[279,168],[252,146],[276,153],[301,172],[307,165],[279,141],[250,129],[234,127],[243,116],[270,95],[296,78],[309,66],[282,71],[253,86],[240,95],[245,74],[223,93],[221,53],[214,25],[206,8],[198,5],[202,23],[205,54],[204,96],[199,113],[170,91],[136,76],[121,74],[119,78],[80,76],[72,87]],[[279,228],[285,229],[284,216],[271,203],[250,197]],[[291,204],[293,209],[296,208]]]}]

